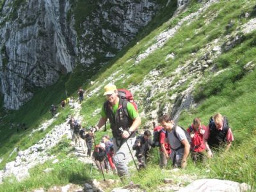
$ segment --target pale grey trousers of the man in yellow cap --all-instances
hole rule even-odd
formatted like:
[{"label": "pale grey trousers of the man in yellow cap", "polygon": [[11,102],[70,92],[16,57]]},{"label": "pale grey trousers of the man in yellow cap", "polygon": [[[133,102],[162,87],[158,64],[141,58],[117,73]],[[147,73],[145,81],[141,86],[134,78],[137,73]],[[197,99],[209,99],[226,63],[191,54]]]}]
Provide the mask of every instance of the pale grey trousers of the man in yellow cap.
[{"label": "pale grey trousers of the man in yellow cap", "polygon": [[134,144],[135,140],[136,137],[127,139],[127,142],[125,142],[125,140],[116,140],[116,138],[113,138],[114,163],[119,177],[129,176],[127,165],[129,161],[132,161],[132,156],[134,154],[131,156],[131,152],[129,151],[127,144],[132,150],[132,145]]}]

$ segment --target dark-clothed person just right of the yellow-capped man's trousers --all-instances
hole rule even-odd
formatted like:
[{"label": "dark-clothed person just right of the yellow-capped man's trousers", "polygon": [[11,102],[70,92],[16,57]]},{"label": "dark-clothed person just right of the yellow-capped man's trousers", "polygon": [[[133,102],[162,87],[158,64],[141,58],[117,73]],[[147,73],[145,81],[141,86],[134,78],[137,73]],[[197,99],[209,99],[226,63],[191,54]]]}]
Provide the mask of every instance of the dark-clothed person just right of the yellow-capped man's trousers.
[{"label": "dark-clothed person just right of the yellow-capped man's trousers", "polygon": [[136,150],[135,156],[139,162],[139,169],[146,168],[148,151],[152,146],[152,140],[150,138],[151,132],[146,130],[143,135],[138,136],[134,145],[132,146],[133,150]]}]

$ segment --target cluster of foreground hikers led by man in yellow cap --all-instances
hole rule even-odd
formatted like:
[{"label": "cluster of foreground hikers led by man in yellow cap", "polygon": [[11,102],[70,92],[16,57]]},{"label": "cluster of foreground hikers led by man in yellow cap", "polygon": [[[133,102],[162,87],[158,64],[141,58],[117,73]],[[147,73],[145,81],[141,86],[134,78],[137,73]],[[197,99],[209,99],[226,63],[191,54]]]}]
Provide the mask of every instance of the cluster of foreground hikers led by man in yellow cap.
[{"label": "cluster of foreground hikers led by man in yellow cap", "polygon": [[211,158],[223,146],[227,151],[234,141],[227,118],[220,113],[212,116],[207,126],[202,125],[200,118],[196,117],[188,129],[177,125],[170,116],[163,115],[158,119],[159,125],[156,126],[154,122],[154,129],[136,136],[141,118],[131,92],[108,84],[104,87],[104,96],[106,102],[102,105],[99,122],[94,127],[81,129],[74,118],[68,122],[72,139],[77,145],[80,136],[86,142],[87,155],[90,156],[95,132],[109,120],[113,138],[103,136],[99,145],[95,145],[92,155],[102,173],[103,170],[109,170],[110,166],[121,179],[129,177],[127,164],[132,159],[134,161],[132,150],[136,151],[138,170],[147,166],[151,147],[159,147],[161,168],[166,168],[169,159],[173,167],[186,168],[189,154],[193,162],[204,162],[205,158]]}]

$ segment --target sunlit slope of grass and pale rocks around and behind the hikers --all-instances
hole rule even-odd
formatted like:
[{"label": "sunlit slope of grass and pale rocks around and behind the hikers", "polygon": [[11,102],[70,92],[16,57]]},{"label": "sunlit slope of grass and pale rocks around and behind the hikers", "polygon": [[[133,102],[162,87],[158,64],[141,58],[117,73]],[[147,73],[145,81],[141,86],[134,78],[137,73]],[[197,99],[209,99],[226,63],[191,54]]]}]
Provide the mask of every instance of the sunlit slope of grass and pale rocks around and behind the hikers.
[{"label": "sunlit slope of grass and pale rocks around and behind the hikers", "polygon": [[[223,113],[228,117],[235,136],[230,152],[216,154],[207,166],[195,166],[189,162],[182,174],[246,182],[254,189],[255,16],[255,1],[191,1],[134,47],[116,56],[91,79],[92,82],[84,84],[83,124],[94,125],[99,120],[104,101],[102,88],[107,83],[129,88],[134,93],[145,126],[164,113],[172,114],[184,127],[195,116],[200,116],[207,124],[209,116]],[[67,115],[68,110],[61,113]],[[63,116],[58,122],[61,120],[64,120]],[[105,133],[97,132],[97,142],[101,134]],[[54,152],[61,158],[61,162],[54,165],[55,172],[40,175],[42,170],[52,166],[49,161],[31,170],[34,180],[28,178],[18,184],[6,180],[0,189],[49,188],[54,184],[77,183],[76,179],[102,180],[99,173],[90,175],[88,166],[81,171],[74,169],[76,166],[71,161],[76,160],[70,160],[65,147]],[[163,178],[170,177],[168,172],[161,172],[154,164],[157,164],[155,150],[152,151],[147,177],[146,172],[132,170],[132,180],[141,184],[142,189],[156,191],[159,185],[163,185]],[[77,167],[80,166],[77,163]],[[56,179],[60,175],[64,176]],[[107,175],[108,179],[113,177]],[[112,188],[110,186],[108,190]]]}]

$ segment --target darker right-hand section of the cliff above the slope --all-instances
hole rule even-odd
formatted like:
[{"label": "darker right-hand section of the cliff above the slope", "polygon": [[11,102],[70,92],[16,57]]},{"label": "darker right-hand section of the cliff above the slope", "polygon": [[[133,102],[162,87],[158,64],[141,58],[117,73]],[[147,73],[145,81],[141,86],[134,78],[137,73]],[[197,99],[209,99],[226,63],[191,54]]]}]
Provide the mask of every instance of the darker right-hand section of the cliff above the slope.
[{"label": "darker right-hand section of the cliff above the slope", "polygon": [[[95,8],[96,7],[96,8]],[[92,2],[92,14],[86,17],[78,34],[79,62],[101,64],[127,45],[139,29],[147,25],[159,10],[157,1],[102,0]]]}]

